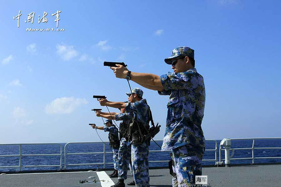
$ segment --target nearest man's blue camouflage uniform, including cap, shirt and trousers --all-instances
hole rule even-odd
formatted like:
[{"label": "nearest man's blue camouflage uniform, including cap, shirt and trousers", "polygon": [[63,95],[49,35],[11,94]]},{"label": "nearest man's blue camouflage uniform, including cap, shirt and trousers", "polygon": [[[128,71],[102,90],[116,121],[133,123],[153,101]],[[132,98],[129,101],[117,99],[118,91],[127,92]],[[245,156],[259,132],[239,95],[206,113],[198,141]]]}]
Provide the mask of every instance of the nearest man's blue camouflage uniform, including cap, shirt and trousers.
[{"label": "nearest man's blue camouflage uniform, including cap, shirt and trousers", "polygon": [[[194,59],[194,50],[178,47],[173,55],[165,59],[171,64],[173,58],[189,56]],[[205,107],[203,77],[195,68],[180,73],[160,76],[164,91],[170,95],[167,108],[166,130],[162,151],[172,150],[173,186],[195,184],[195,175],[202,175],[201,161],[205,152],[205,137],[201,128]]]}]

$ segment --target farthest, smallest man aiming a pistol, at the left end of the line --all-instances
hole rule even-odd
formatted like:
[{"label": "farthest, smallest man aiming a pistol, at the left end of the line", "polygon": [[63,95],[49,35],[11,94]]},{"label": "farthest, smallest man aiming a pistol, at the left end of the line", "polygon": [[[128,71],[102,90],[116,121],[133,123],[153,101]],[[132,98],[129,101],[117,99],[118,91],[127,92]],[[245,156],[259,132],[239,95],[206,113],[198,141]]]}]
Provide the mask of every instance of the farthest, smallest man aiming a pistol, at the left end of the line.
[{"label": "farthest, smallest man aiming a pistol, at the left end of the line", "polygon": [[117,160],[118,160],[118,150],[120,146],[120,141],[118,137],[118,129],[116,128],[115,125],[112,124],[111,119],[107,119],[106,122],[104,123],[106,127],[97,127],[96,125],[92,125],[93,128],[99,129],[99,130],[104,130],[104,132],[109,132],[108,133],[108,139],[109,139],[109,145],[110,148],[113,152],[113,164],[114,164],[114,171],[110,175],[110,177],[117,177]]}]

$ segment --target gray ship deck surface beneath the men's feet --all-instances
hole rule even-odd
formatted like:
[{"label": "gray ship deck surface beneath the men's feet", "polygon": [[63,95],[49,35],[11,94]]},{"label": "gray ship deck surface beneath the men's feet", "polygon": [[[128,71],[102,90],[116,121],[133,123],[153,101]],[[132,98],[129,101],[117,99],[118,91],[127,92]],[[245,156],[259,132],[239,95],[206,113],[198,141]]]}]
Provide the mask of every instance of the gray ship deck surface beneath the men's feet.
[{"label": "gray ship deck surface beneath the men's feet", "polygon": [[[112,171],[105,171],[107,174]],[[149,170],[151,187],[171,187],[171,175],[168,169]],[[281,165],[247,165],[232,167],[203,167],[202,175],[208,175],[208,186],[224,187],[264,187],[281,186]],[[79,184],[79,180],[90,180],[96,177],[96,172],[64,172],[40,174],[10,174],[0,175],[0,187],[101,187],[100,183]],[[117,182],[117,178],[111,178]],[[102,179],[100,179],[102,180]],[[133,180],[130,171],[128,182]]]}]

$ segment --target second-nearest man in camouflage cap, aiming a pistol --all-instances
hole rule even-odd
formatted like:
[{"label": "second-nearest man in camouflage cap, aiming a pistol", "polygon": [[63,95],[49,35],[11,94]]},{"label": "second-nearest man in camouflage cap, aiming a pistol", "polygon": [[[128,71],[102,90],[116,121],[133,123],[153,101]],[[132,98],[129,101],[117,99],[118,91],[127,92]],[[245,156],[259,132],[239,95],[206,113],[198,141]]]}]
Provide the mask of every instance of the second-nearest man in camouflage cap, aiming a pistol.
[{"label": "second-nearest man in camouflage cap, aiming a pistol", "polygon": [[[143,91],[139,88],[132,89],[132,93],[126,93],[128,95],[129,103],[124,102],[110,102],[106,99],[99,99],[101,106],[109,106],[114,108],[125,108],[127,112],[133,113],[133,118],[139,124],[145,132],[144,126],[150,120],[149,108],[146,103],[146,99],[142,98]],[[134,99],[136,104],[134,103]],[[140,115],[137,112],[137,109]],[[118,118],[118,117],[117,117]],[[116,119],[115,116],[113,119]],[[145,124],[142,125],[142,122]],[[149,126],[146,127],[148,130]],[[135,129],[136,130],[136,129]],[[136,130],[137,131],[137,130]],[[131,145],[131,161],[132,170],[134,175],[135,184],[137,187],[149,187],[149,171],[148,171],[148,142],[143,142],[140,145]],[[123,179],[119,179],[116,185],[112,187],[124,187],[125,183]]]}]

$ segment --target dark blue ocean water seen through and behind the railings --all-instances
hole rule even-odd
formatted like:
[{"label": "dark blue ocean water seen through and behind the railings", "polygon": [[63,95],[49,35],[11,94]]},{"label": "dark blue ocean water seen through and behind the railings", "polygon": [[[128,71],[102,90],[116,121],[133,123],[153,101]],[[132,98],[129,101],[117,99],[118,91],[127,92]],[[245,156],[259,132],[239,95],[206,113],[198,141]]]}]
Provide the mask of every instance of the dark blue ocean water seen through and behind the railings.
[{"label": "dark blue ocean water seen through and behind the railings", "polygon": [[[219,143],[217,140],[217,160],[219,161]],[[162,142],[157,142],[160,146]],[[62,145],[62,169],[64,168],[64,146]],[[108,143],[107,143],[108,144]],[[251,148],[253,140],[232,140],[231,148]],[[111,149],[106,147],[106,152]],[[255,147],[281,147],[281,139],[255,140]],[[206,150],[215,149],[214,141],[206,141]],[[222,147],[223,149],[223,147]],[[83,152],[103,152],[103,143],[91,144],[70,144],[66,147],[67,153],[83,153]],[[160,150],[160,148],[151,142],[149,150]],[[0,146],[0,155],[17,155],[19,154],[18,145]],[[59,145],[22,145],[22,154],[60,154]],[[230,151],[231,154],[231,151]],[[252,157],[252,150],[235,150],[232,158],[249,158]],[[281,149],[259,149],[254,150],[254,157],[281,157]],[[215,159],[215,151],[205,151],[203,159]],[[224,151],[221,151],[221,159],[224,159]],[[67,155],[67,164],[81,164],[81,163],[103,163],[103,154],[88,154],[88,155]],[[149,161],[170,160],[169,152],[150,152]],[[112,154],[106,154],[106,162],[112,162]],[[22,165],[60,165],[60,156],[22,156]],[[281,162],[281,159],[255,159],[255,163],[272,163]],[[245,164],[252,163],[252,160],[233,160],[231,164]],[[203,161],[203,165],[215,165],[215,161]],[[19,165],[19,156],[1,156],[0,166],[15,166]],[[149,163],[150,167],[168,166],[167,162]],[[103,168],[102,165],[81,165],[81,166],[67,166],[67,169],[96,169]],[[106,168],[113,168],[113,164],[105,165]],[[22,167],[21,170],[57,170],[59,167]],[[19,168],[0,168],[0,171],[17,171]]]}]

